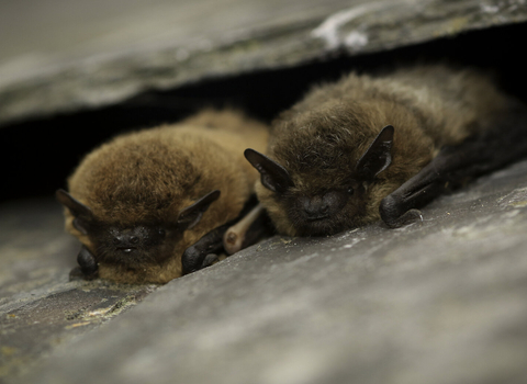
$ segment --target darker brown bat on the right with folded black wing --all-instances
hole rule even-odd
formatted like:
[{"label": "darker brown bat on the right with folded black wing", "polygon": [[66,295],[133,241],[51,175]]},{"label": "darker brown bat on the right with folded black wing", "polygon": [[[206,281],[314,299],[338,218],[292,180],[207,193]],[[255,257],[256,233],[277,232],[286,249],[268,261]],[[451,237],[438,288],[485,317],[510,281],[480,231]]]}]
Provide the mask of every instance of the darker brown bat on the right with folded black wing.
[{"label": "darker brown bat on the right with folded black wing", "polygon": [[350,74],[272,123],[256,191],[279,233],[321,236],[382,218],[397,227],[447,184],[527,155],[525,105],[473,69]]}]

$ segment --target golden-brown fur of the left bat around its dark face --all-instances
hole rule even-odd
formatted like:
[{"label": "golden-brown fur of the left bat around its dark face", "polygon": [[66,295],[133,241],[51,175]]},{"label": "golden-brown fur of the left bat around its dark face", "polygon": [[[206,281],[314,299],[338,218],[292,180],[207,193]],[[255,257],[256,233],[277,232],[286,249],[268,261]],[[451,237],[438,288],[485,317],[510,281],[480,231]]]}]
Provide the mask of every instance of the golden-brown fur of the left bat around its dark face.
[{"label": "golden-brown fur of the left bat around its dark face", "polygon": [[[70,194],[103,225],[168,226],[168,257],[133,268],[99,261],[97,235],[82,235],[68,208],[66,228],[96,255],[99,275],[117,282],[166,283],[181,275],[183,251],[205,233],[238,216],[258,172],[243,150],[265,149],[265,125],[233,111],[204,111],[179,124],[115,137],[89,154],[68,180]],[[221,196],[199,224],[178,233],[179,212],[213,190]],[[168,249],[167,249],[168,248]]]}]

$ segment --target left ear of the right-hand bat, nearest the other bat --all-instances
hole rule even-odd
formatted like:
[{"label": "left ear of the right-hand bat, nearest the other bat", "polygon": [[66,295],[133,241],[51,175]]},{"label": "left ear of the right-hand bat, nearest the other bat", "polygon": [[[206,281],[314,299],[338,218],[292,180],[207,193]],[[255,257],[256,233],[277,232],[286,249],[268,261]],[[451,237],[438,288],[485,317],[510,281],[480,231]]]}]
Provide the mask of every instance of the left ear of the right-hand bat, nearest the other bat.
[{"label": "left ear of the right-hand bat, nearest the other bat", "polygon": [[261,184],[268,190],[283,193],[291,187],[294,187],[288,170],[277,161],[250,148],[247,148],[244,155],[253,167],[260,172]]}]

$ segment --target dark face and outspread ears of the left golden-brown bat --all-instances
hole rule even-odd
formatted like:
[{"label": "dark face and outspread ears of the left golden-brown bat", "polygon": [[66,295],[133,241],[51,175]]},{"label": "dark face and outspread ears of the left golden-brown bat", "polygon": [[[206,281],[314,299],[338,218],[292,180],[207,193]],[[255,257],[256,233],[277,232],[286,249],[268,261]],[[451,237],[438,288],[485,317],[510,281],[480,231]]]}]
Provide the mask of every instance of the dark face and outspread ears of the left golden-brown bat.
[{"label": "dark face and outspread ears of the left golden-brown bat", "polygon": [[89,206],[64,190],[58,190],[56,197],[68,208],[72,227],[79,233],[79,239],[90,245],[97,262],[138,269],[161,264],[172,257],[183,233],[200,222],[203,213],[220,197],[220,191],[212,191],[180,210],[173,219],[143,217],[126,223],[101,219]]}]

